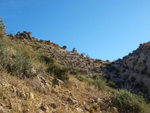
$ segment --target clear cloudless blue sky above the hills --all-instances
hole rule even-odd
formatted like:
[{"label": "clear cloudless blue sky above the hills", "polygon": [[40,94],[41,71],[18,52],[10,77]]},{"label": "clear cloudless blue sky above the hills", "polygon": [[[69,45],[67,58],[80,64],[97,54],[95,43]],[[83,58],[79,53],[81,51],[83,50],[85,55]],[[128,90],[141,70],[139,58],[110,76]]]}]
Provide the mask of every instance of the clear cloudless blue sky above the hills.
[{"label": "clear cloudless blue sky above the hills", "polygon": [[150,41],[150,0],[0,0],[0,16],[7,33],[30,31],[102,60]]}]

